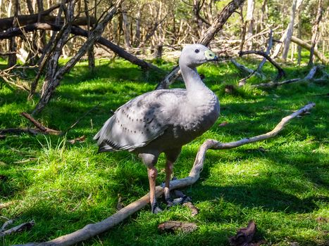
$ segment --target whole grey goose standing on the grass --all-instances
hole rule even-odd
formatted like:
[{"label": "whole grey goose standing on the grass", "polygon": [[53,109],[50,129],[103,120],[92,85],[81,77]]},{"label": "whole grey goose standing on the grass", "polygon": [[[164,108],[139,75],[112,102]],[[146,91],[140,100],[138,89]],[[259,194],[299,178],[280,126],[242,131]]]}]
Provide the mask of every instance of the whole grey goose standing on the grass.
[{"label": "whole grey goose standing on the grass", "polygon": [[156,164],[166,154],[166,200],[173,162],[182,145],[209,129],[219,115],[217,96],[201,81],[195,67],[216,56],[201,44],[185,46],[180,70],[186,89],[161,89],[144,93],[116,110],[94,136],[99,152],[128,150],[147,165],[152,212],[158,212],[154,198]]}]

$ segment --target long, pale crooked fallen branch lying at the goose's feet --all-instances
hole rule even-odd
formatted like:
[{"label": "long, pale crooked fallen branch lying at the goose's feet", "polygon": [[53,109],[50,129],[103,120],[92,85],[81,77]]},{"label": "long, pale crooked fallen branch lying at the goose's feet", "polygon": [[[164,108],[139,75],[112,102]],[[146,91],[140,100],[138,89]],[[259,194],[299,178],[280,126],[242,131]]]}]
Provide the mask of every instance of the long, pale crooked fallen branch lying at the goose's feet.
[{"label": "long, pale crooked fallen branch lying at the goose's feet", "polygon": [[[170,181],[170,190],[191,186],[199,179],[200,173],[204,167],[206,151],[209,150],[209,148],[214,150],[230,149],[230,148],[239,147],[247,143],[254,143],[256,141],[262,141],[267,138],[272,138],[273,136],[276,136],[291,119],[297,117],[297,115],[303,115],[305,112],[311,110],[311,108],[314,108],[314,106],[315,103],[309,103],[308,105],[305,105],[303,108],[297,110],[296,112],[293,112],[291,115],[284,117],[283,119],[281,119],[280,123],[272,131],[266,134],[254,136],[252,138],[243,138],[240,141],[235,141],[230,143],[220,143],[213,139],[208,139],[204,141],[204,143],[199,148],[197,157],[194,160],[194,164],[190,171],[189,176],[187,176],[184,179],[176,179]],[[159,198],[159,196],[161,196],[162,194],[163,194],[163,186],[156,186],[156,198]],[[82,242],[84,240],[92,238],[94,235],[98,235],[99,233],[108,231],[108,229],[113,228],[113,226],[116,226],[124,219],[127,219],[130,215],[134,214],[139,209],[142,209],[142,207],[146,206],[148,203],[149,203],[149,193],[147,193],[147,195],[144,195],[142,198],[139,198],[139,200],[130,203],[130,205],[128,205],[127,207],[123,207],[118,212],[116,212],[116,214],[109,216],[107,219],[104,219],[103,221],[94,224],[88,224],[87,226],[81,228],[80,230],[77,230],[67,235],[62,235],[61,237],[55,238],[48,242],[41,242],[41,243],[31,242],[26,244],[25,246],[74,245],[77,242]]]}]

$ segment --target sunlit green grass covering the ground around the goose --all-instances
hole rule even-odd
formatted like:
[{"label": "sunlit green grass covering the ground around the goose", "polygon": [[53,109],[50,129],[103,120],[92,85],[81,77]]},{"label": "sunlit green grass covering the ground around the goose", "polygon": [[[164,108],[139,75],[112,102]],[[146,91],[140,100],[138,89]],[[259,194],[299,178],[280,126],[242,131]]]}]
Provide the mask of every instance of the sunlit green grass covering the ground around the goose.
[{"label": "sunlit green grass covering the ground around the goose", "polygon": [[[171,65],[163,63],[163,68]],[[304,76],[307,67],[286,67],[288,77]],[[275,77],[270,65],[268,77]],[[327,70],[328,71],[328,70]],[[226,84],[242,77],[229,64],[203,65],[206,84],[221,101],[221,117],[212,129],[182,150],[175,176],[188,175],[199,145],[206,138],[222,142],[270,131],[280,119],[309,101],[311,115],[293,119],[275,138],[232,150],[209,150],[197,183],[186,188],[199,214],[171,207],[151,214],[149,207],[132,215],[111,231],[80,245],[228,245],[237,228],[256,221],[257,238],[267,245],[328,245],[329,148],[328,83],[299,83],[278,89],[245,86],[233,94]],[[321,75],[317,75],[321,76]],[[51,240],[116,212],[118,194],[128,205],[148,192],[146,167],[126,152],[97,155],[92,141],[102,123],[120,105],[154,89],[159,76],[145,74],[123,60],[99,60],[94,73],[80,63],[58,87],[38,119],[46,126],[66,131],[87,110],[101,103],[66,136],[7,136],[0,141],[1,209],[15,224],[35,220],[30,231],[8,235],[0,245]],[[251,79],[258,83],[259,79]],[[175,84],[181,87],[182,84]],[[0,89],[0,128],[27,127],[18,114],[32,110],[27,94]],[[228,122],[224,127],[222,122]],[[68,140],[85,135],[82,143]],[[265,151],[259,147],[263,147]],[[158,183],[164,180],[164,160],[159,160]],[[160,234],[166,220],[191,221],[193,233]]]}]

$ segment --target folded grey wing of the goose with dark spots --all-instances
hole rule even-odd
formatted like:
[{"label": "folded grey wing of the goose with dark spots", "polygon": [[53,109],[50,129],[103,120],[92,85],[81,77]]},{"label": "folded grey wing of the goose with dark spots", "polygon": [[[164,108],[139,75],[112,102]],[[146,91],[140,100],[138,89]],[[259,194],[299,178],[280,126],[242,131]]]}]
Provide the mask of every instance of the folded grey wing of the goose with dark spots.
[{"label": "folded grey wing of the goose with dark spots", "polygon": [[161,90],[151,91],[118,108],[94,136],[99,152],[134,150],[161,136],[172,115],[167,104],[175,103],[168,100],[172,95],[164,94]]}]

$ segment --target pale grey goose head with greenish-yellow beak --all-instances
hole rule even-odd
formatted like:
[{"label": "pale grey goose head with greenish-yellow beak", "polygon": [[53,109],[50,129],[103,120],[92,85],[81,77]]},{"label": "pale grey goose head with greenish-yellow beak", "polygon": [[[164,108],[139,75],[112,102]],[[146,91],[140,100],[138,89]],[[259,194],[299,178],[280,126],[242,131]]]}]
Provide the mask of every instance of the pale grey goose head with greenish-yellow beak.
[{"label": "pale grey goose head with greenish-yellow beak", "polygon": [[180,53],[180,65],[197,67],[211,60],[218,60],[213,51],[202,44],[188,44]]}]

